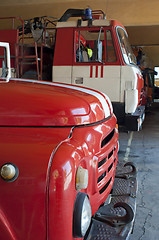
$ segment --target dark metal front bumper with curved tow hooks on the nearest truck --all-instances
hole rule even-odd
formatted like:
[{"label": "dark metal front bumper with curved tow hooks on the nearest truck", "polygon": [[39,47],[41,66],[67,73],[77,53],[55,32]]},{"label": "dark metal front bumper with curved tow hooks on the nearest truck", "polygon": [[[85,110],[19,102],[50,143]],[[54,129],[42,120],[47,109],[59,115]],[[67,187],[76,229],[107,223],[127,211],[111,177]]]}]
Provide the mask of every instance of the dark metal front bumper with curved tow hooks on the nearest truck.
[{"label": "dark metal front bumper with curved tow hooks on the nearest truck", "polygon": [[132,162],[118,161],[109,202],[92,217],[84,240],[125,240],[134,225],[136,214],[137,171]]}]

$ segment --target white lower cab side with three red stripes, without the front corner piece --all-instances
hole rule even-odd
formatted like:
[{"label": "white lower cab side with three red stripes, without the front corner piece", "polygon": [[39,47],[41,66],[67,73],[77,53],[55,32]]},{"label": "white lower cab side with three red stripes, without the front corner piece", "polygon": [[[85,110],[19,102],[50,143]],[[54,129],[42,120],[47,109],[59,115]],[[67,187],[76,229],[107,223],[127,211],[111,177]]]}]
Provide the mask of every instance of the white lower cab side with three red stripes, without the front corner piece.
[{"label": "white lower cab side with three red stripes, without the front corner piece", "polygon": [[[92,69],[91,69],[92,68]],[[121,66],[54,66],[53,79],[56,82],[74,84],[104,92],[111,101],[120,101]],[[72,73],[71,73],[72,69]],[[92,74],[91,74],[92,71]],[[103,72],[103,73],[102,73]],[[92,77],[91,77],[92,75]],[[103,77],[101,77],[103,75]],[[72,81],[70,81],[72,79]],[[112,85],[114,86],[112,88]]]}]

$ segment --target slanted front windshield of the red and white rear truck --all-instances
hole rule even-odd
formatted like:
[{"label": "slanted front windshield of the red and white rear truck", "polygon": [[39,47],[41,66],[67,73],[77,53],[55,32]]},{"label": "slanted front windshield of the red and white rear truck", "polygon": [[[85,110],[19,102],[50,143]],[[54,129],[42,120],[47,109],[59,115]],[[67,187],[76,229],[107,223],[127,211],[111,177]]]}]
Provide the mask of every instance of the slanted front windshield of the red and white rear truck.
[{"label": "slanted front windshield of the red and white rear truck", "polygon": [[119,42],[123,54],[123,58],[126,64],[136,64],[136,58],[133,54],[132,48],[128,41],[128,37],[122,28],[117,29]]}]

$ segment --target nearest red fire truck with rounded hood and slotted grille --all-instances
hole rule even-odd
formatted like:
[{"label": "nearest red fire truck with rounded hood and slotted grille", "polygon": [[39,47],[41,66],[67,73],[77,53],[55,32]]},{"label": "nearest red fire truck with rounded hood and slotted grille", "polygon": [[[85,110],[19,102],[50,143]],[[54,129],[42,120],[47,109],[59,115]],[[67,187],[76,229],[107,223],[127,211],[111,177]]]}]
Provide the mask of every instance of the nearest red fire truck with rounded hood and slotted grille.
[{"label": "nearest red fire truck with rounded hood and slotted grille", "polygon": [[8,43],[0,53],[0,239],[127,239],[136,170],[118,163],[115,177],[118,128],[109,98],[12,78]]}]

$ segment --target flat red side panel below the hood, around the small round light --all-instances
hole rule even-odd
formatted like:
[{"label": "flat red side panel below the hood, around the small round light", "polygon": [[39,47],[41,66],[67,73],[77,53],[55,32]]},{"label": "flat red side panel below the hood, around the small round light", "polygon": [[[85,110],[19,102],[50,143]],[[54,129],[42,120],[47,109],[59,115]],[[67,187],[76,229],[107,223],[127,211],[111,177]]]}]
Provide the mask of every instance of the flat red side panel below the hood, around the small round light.
[{"label": "flat red side panel below the hood, around the small round light", "polygon": [[70,128],[1,128],[1,166],[13,162],[19,169],[10,184],[0,178],[1,240],[46,239],[48,163],[69,134]]}]

